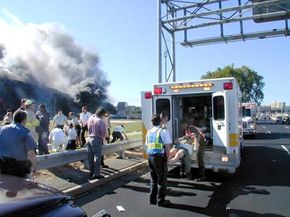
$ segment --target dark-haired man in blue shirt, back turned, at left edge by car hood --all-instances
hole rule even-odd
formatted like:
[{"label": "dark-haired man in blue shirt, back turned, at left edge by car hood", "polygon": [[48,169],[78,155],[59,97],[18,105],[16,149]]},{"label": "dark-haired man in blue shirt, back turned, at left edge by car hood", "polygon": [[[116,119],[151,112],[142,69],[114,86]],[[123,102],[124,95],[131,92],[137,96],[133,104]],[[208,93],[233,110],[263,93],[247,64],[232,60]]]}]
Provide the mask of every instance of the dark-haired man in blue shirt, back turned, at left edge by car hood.
[{"label": "dark-haired man in blue shirt, back turned, at left edge by car hood", "polygon": [[37,160],[34,142],[29,130],[25,128],[26,112],[17,110],[14,123],[0,128],[0,172],[2,174],[27,177],[31,171],[36,175]]}]

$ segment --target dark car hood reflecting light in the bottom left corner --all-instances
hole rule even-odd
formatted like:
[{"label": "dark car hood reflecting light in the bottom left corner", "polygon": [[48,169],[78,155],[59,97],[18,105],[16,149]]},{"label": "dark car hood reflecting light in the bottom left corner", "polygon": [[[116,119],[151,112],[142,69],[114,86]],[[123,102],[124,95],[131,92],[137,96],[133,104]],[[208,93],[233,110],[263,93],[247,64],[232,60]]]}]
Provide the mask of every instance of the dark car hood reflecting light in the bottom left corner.
[{"label": "dark car hood reflecting light in the bottom left corner", "polygon": [[0,174],[0,189],[0,216],[87,216],[71,197],[32,180]]}]

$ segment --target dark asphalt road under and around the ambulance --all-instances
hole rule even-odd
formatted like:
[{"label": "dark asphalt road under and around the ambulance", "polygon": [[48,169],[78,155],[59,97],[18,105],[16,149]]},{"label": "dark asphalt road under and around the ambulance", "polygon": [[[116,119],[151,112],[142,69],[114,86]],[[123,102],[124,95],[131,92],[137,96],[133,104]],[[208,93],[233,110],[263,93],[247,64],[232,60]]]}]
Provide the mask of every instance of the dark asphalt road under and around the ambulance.
[{"label": "dark asphalt road under and around the ambulance", "polygon": [[[92,216],[112,217],[290,217],[290,126],[260,123],[256,139],[245,140],[243,160],[230,178],[207,171],[206,182],[168,179],[168,208],[148,204],[149,174],[124,177],[77,199]],[[193,171],[195,172],[195,170]],[[120,212],[116,206],[122,206]]]}]

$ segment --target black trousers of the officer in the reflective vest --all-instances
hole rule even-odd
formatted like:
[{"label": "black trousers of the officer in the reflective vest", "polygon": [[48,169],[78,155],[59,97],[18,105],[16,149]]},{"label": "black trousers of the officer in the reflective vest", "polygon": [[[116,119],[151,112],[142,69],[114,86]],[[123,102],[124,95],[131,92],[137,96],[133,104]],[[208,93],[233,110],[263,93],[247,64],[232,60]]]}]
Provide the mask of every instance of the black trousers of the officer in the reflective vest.
[{"label": "black trousers of the officer in the reflective vest", "polygon": [[[163,201],[166,196],[167,188],[167,159],[165,156],[148,156],[150,182],[150,202],[156,203]],[[159,185],[159,189],[158,189]]]}]

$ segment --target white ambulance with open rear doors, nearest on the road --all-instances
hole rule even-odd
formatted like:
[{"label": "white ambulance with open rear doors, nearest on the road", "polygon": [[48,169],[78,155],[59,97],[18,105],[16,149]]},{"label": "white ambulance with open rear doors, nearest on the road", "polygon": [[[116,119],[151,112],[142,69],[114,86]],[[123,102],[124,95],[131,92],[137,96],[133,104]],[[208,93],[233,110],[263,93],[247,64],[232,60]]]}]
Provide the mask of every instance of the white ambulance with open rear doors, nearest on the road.
[{"label": "white ambulance with open rear doors, nearest on the road", "polygon": [[[152,128],[153,114],[169,114],[166,128],[173,141],[184,135],[183,122],[198,118],[208,129],[205,167],[215,172],[236,172],[241,162],[243,131],[241,92],[235,78],[158,83],[152,91],[142,92],[141,98],[144,143],[146,132]],[[192,167],[197,167],[196,154],[193,151]]]}]

